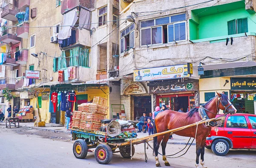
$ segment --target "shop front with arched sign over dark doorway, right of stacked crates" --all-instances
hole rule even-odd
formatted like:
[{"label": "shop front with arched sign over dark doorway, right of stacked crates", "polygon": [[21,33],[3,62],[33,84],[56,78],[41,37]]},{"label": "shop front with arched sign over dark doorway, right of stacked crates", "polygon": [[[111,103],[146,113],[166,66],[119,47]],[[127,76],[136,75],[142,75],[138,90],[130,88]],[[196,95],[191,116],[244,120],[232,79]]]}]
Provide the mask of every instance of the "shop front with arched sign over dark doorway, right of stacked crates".
[{"label": "shop front with arched sign over dark doorway, right of stacked crates", "polygon": [[148,94],[145,82],[134,82],[133,80],[122,80],[121,83],[121,96],[131,98],[125,102],[125,106],[131,106],[131,120],[137,120],[143,113],[148,116],[152,112],[151,108],[151,95]]}]

